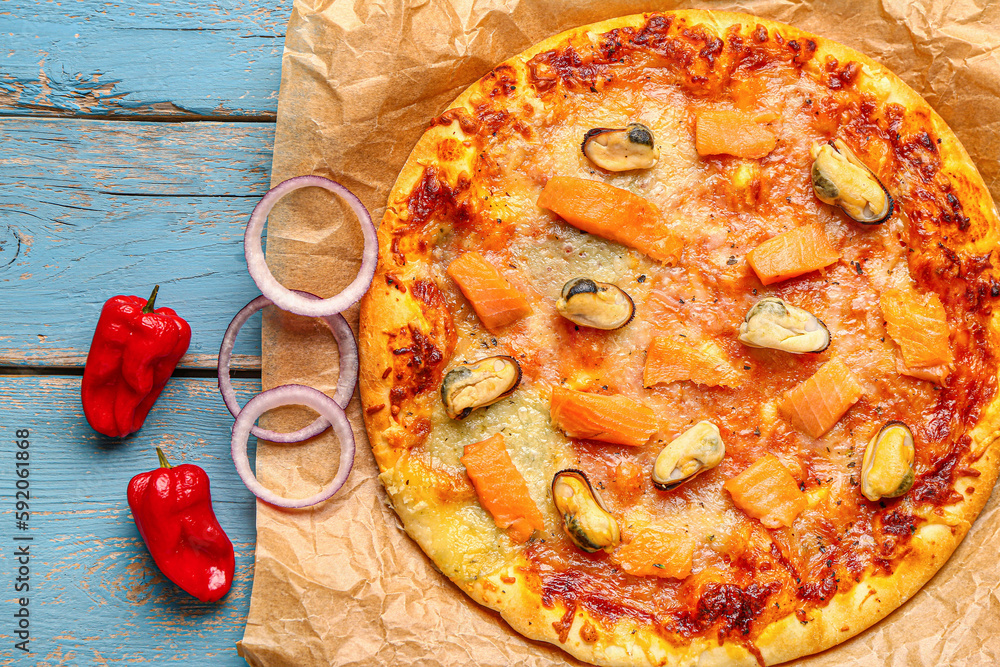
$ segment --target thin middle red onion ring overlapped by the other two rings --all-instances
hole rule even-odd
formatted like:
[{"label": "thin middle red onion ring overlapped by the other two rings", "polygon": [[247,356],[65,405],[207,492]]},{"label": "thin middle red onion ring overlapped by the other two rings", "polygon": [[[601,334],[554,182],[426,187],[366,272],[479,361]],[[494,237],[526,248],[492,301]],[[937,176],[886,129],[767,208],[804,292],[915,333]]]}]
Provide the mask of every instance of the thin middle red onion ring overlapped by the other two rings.
[{"label": "thin middle red onion ring overlapped by the other two rings", "polygon": [[[295,290],[295,293],[307,299],[319,300],[318,296],[309,292]],[[251,315],[270,305],[272,305],[272,302],[266,296],[261,295],[257,297],[245,305],[240,312],[236,313],[236,317],[229,323],[229,327],[222,337],[222,347],[219,348],[219,392],[222,394],[222,400],[226,403],[226,407],[229,408],[229,412],[232,413],[233,417],[238,416],[240,413],[240,404],[236,400],[236,392],[233,390],[233,383],[229,378],[229,364],[233,356],[233,346],[236,344],[236,336],[239,335],[240,329],[250,319]],[[354,395],[354,387],[358,382],[358,344],[354,340],[354,332],[351,331],[347,320],[340,313],[326,315],[320,319],[330,327],[334,340],[337,341],[337,349],[340,351],[340,374],[337,379],[337,393],[334,394],[333,400],[341,408],[346,409],[347,404],[351,402],[351,396]],[[253,426],[250,432],[258,438],[270,440],[271,442],[291,443],[301,442],[317,436],[328,428],[330,428],[330,422],[323,417],[317,417],[313,423],[291,433],[280,433],[259,426]]]}]

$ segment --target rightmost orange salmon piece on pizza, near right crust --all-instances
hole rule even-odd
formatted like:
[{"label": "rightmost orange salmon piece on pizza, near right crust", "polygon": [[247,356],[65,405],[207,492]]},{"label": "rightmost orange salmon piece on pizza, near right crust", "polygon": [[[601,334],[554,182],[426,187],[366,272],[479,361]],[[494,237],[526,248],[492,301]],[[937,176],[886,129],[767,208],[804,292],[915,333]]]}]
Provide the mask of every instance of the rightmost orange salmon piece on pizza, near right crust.
[{"label": "rightmost orange salmon piece on pizza, near right crust", "polygon": [[889,335],[899,345],[909,368],[951,363],[948,318],[937,294],[892,289],[879,299]]}]

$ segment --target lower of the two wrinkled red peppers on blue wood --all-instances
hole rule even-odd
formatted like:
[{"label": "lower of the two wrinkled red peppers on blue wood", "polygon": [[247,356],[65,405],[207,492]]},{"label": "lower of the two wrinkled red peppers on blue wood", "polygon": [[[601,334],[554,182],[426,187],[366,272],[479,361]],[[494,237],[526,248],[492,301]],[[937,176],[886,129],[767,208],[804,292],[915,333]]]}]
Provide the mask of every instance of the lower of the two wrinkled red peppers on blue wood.
[{"label": "lower of the two wrinkled red peppers on blue wood", "polygon": [[202,602],[215,602],[233,583],[236,558],[215,512],[208,475],[191,463],[160,467],[132,478],[128,506],[160,571]]}]

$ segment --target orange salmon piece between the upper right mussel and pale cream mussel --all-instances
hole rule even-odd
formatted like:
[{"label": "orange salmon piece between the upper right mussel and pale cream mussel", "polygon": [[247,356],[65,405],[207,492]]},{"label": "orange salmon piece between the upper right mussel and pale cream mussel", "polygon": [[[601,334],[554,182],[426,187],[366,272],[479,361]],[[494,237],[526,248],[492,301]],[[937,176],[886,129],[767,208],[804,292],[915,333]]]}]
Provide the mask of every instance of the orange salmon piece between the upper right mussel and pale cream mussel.
[{"label": "orange salmon piece between the upper right mussel and pale cream mussel", "polygon": [[747,262],[765,285],[822,269],[838,259],[840,253],[816,225],[778,234],[747,253]]}]

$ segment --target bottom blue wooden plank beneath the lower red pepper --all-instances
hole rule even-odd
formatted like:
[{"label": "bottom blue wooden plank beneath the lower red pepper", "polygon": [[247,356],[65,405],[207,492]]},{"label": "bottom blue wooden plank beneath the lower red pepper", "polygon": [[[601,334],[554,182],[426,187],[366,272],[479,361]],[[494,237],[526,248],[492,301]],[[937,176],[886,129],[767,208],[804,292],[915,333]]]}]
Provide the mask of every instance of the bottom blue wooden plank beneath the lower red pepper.
[{"label": "bottom blue wooden plank beneath the lower red pepper", "polygon": [[[241,401],[259,381],[234,382]],[[0,664],[245,665],[236,654],[250,605],[254,498],[229,457],[232,419],[211,380],[173,379],[146,424],[122,442],[96,434],[79,378],[0,377]],[[15,517],[16,431],[28,429],[27,530]],[[236,549],[230,593],[201,603],[166,580],[135,528],[129,480],[156,467],[154,447],[208,473],[216,516]],[[14,537],[31,537],[15,541]],[[13,553],[30,545],[30,654],[13,648]]]}]

